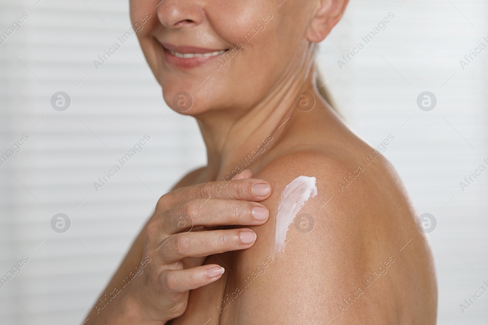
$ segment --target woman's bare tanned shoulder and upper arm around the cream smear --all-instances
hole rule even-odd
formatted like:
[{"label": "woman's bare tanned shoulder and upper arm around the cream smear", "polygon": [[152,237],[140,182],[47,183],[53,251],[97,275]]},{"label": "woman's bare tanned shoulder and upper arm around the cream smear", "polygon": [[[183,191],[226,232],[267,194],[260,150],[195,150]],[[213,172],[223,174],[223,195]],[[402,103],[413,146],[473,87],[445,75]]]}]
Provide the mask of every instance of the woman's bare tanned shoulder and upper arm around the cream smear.
[{"label": "woman's bare tanned shoulder and upper arm around the cream smear", "polygon": [[[317,195],[297,213],[277,254],[276,213],[299,176],[316,178]],[[245,303],[231,309],[234,316],[250,308],[270,324],[435,323],[420,306],[436,291],[430,253],[401,181],[380,153],[367,146],[346,154],[297,151],[256,177],[272,185],[262,202],[270,220],[254,228],[254,247],[239,253]],[[413,286],[421,289],[411,292]]]}]

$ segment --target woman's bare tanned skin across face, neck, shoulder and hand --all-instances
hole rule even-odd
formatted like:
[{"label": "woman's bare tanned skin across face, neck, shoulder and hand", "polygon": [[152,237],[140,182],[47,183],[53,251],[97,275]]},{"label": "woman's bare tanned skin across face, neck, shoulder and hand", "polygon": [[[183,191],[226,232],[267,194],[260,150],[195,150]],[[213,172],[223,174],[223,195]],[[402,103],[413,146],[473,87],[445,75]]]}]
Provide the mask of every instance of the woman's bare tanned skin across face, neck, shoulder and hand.
[{"label": "woman's bare tanned skin across face, neck, shoulder and hand", "polygon": [[[151,262],[86,324],[435,324],[435,272],[417,212],[392,166],[347,128],[315,82],[313,44],[347,1],[157,2],[131,1],[131,18],[154,17],[138,34],[142,49],[170,107],[178,110],[176,93],[191,94],[182,114],[197,118],[208,165],[159,200],[104,293]],[[215,60],[190,67],[168,58],[160,44],[233,48],[267,12],[275,14],[259,38],[221,70]],[[316,101],[307,112],[295,105],[304,91]],[[236,165],[249,171],[228,181]],[[285,254],[273,259],[280,195],[300,175],[317,178],[318,195],[299,212],[314,227],[292,223]],[[271,192],[254,195],[256,182]],[[198,209],[181,209],[187,202]],[[266,220],[252,219],[257,206],[269,211]],[[190,218],[179,229],[182,212]],[[189,220],[193,228],[184,228]],[[255,242],[239,240],[245,230]],[[190,238],[185,249],[178,238]],[[205,273],[218,267],[223,274]]]}]

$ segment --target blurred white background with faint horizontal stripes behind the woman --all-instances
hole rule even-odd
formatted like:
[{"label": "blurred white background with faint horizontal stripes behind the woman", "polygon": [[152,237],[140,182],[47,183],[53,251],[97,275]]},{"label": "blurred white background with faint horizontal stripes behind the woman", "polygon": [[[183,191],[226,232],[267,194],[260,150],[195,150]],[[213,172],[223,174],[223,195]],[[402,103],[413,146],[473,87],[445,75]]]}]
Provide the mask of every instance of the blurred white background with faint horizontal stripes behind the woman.
[{"label": "blurred white background with faint horizontal stripes behind the woman", "polygon": [[[164,104],[135,36],[95,69],[130,27],[127,1],[0,0],[0,33],[22,12],[29,18],[0,45],[0,154],[29,136],[0,166],[0,276],[29,262],[0,288],[0,323],[81,324],[157,197],[205,151],[195,121]],[[341,70],[337,60],[389,12],[386,30]],[[374,146],[395,136],[386,157],[419,213],[437,219],[439,325],[488,319],[488,294],[459,308],[488,280],[488,172],[459,186],[488,160],[488,49],[459,64],[488,37],[487,16],[481,0],[351,0],[318,57],[353,129]],[[71,97],[65,112],[50,106],[57,91]],[[423,91],[437,97],[431,112],[416,106]],[[95,191],[144,134],[142,153]],[[62,234],[50,226],[60,212],[72,222]]]}]

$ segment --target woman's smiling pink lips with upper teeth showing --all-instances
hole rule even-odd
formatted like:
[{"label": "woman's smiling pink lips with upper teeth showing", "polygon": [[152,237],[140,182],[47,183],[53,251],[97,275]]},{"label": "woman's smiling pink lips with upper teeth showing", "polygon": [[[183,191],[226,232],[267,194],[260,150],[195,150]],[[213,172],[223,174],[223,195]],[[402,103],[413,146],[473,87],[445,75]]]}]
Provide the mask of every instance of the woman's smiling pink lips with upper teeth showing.
[{"label": "woman's smiling pink lips with upper teeth showing", "polygon": [[176,46],[161,43],[166,63],[178,68],[189,69],[201,66],[227,50],[205,49],[194,46]]}]

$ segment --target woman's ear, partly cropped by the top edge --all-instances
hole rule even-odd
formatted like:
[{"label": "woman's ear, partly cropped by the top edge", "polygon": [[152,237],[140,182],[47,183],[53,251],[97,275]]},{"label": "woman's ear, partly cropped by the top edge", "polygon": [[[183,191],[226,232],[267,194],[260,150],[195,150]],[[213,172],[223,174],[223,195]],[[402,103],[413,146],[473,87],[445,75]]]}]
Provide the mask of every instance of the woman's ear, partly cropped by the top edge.
[{"label": "woman's ear, partly cropped by the top edge", "polygon": [[321,42],[342,18],[347,2],[349,0],[317,0],[306,38],[312,43]]}]

